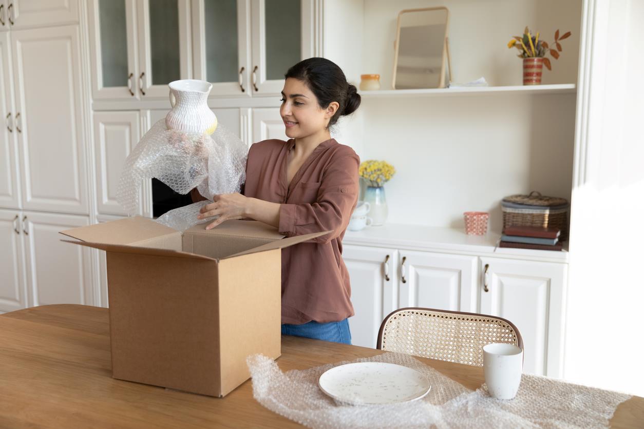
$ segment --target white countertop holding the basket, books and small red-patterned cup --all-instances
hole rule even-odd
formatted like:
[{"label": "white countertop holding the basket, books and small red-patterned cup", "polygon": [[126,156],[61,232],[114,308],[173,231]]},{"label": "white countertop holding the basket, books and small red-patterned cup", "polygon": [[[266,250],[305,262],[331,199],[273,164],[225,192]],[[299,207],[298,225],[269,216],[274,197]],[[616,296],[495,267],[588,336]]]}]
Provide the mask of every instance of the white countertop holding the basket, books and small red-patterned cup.
[{"label": "white countertop holding the basket, books and small red-patterned cup", "polygon": [[[343,244],[375,246],[405,250],[436,251],[485,255],[511,259],[541,260],[545,262],[568,262],[568,251],[496,248],[500,233],[467,235],[457,228],[437,226],[385,224],[368,226],[361,231],[345,233]],[[565,248],[565,246],[564,246]]]}]

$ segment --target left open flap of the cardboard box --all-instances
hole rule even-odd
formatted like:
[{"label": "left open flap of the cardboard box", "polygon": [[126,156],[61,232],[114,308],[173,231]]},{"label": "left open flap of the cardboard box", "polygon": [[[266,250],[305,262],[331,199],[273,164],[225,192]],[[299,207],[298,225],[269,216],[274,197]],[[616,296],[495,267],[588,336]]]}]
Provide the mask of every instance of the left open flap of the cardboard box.
[{"label": "left open flap of the cardboard box", "polygon": [[92,243],[133,244],[162,235],[180,234],[180,232],[152,219],[135,216],[118,221],[81,226],[81,228],[61,231],[61,234]]}]

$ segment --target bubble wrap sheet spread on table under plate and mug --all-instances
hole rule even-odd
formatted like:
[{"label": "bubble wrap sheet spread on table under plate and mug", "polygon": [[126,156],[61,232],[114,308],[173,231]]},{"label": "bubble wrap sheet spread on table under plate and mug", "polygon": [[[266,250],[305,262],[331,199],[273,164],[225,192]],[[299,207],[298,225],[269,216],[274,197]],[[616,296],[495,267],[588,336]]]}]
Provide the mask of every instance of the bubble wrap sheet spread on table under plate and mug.
[{"label": "bubble wrap sheet spread on table under plate and mug", "polygon": [[397,363],[424,374],[430,393],[398,405],[339,405],[317,387],[326,370],[342,361],[281,372],[262,355],[249,356],[252,390],[261,405],[310,428],[605,428],[629,395],[524,374],[512,401],[460,385],[412,356],[387,352],[352,362]]}]

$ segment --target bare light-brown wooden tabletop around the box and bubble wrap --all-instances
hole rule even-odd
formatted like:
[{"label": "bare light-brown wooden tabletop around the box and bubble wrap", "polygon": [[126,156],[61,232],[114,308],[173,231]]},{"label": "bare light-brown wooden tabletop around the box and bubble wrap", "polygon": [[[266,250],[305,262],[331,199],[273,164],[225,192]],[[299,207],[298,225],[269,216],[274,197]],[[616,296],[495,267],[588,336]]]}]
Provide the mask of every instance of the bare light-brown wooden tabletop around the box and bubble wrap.
[{"label": "bare light-brown wooden tabletop around the box and bubble wrap", "polygon": [[[282,370],[375,356],[381,351],[283,336]],[[475,389],[483,370],[422,359]],[[644,399],[618,406],[612,427],[644,427]],[[403,422],[401,422],[403,423]],[[111,378],[108,309],[41,306],[0,316],[0,427],[301,427],[252,397],[251,381],[223,398]]]}]

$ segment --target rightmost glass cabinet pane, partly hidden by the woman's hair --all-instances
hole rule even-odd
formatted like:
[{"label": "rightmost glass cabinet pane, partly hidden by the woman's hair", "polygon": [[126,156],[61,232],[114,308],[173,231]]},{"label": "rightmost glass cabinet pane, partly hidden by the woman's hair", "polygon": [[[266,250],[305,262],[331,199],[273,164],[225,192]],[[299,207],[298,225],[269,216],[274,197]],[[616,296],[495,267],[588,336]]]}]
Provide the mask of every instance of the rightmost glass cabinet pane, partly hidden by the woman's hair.
[{"label": "rightmost glass cabinet pane, partly hidden by the woman's hair", "polygon": [[266,78],[281,80],[301,60],[300,0],[266,0]]}]

